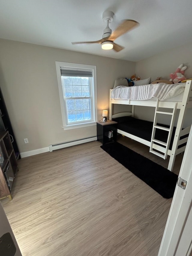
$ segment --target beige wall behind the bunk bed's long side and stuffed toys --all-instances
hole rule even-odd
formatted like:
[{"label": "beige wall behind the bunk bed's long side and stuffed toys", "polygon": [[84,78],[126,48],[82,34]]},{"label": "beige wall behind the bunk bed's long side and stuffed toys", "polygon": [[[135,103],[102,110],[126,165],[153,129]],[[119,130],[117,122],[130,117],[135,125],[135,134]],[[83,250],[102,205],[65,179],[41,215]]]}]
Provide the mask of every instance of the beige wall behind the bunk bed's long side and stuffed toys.
[{"label": "beige wall behind the bunk bed's long side and stuffed toys", "polygon": [[[188,66],[185,71],[185,77],[192,78],[192,44],[174,48],[161,54],[157,54],[147,59],[143,59],[136,63],[136,74],[141,79],[151,77],[151,81],[157,77],[162,79],[170,79],[169,74],[175,72],[176,68],[184,63]],[[135,117],[153,121],[155,108],[152,107],[135,107]],[[168,124],[167,118],[164,116],[158,119],[161,123]],[[192,109],[187,110],[184,127],[192,123]]]}]

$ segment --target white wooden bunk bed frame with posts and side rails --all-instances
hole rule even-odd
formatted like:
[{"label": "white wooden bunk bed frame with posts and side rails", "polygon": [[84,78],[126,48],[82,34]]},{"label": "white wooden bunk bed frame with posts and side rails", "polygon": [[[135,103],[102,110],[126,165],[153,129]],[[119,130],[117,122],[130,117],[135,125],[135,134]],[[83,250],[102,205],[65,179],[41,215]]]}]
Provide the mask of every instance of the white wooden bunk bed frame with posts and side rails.
[{"label": "white wooden bunk bed frame with posts and side rails", "polygon": [[[168,164],[168,170],[172,171],[173,170],[173,165],[175,162],[175,158],[176,155],[180,154],[181,152],[183,152],[185,150],[186,146],[182,146],[178,149],[179,145],[182,145],[183,143],[187,142],[188,136],[184,139],[180,140],[180,137],[182,137],[183,135],[189,134],[190,132],[190,126],[188,126],[187,128],[182,129],[183,127],[183,122],[184,122],[184,118],[185,118],[185,114],[186,114],[186,110],[187,108],[192,108],[192,101],[189,101],[189,98],[192,97],[192,80],[188,80],[186,82],[186,86],[185,86],[185,90],[184,90],[184,94],[183,94],[183,99],[181,102],[171,102],[171,101],[134,101],[134,100],[121,100],[121,99],[112,99],[111,98],[111,92],[112,89],[110,90],[110,120],[112,120],[112,117],[119,117],[119,116],[133,116],[134,117],[134,111],[135,111],[135,106],[148,106],[148,107],[156,107],[155,109],[155,117],[154,117],[154,124],[153,124],[153,132],[152,132],[152,139],[151,141],[148,140],[144,140],[140,137],[137,137],[133,134],[127,133],[125,131],[122,130],[117,130],[117,132],[119,134],[122,134],[126,137],[129,137],[133,140],[136,140],[142,144],[145,144],[147,146],[150,147],[150,152],[154,153],[155,155],[158,155],[162,158],[167,158],[167,155],[170,155],[170,160],[169,160],[169,164]],[[112,115],[113,113],[113,104],[125,104],[125,105],[132,105],[132,112],[130,113],[118,113],[115,115]],[[162,111],[158,111],[158,107],[161,108],[170,108],[173,109],[173,117],[172,117],[172,123],[174,123],[174,116],[175,116],[175,110],[180,109],[179,112],[179,117],[178,117],[178,121],[177,121],[177,126],[176,126],[176,132],[175,132],[175,137],[173,140],[173,146],[172,149],[170,150],[169,147],[166,149],[163,146],[157,145],[154,143],[154,137],[155,137],[155,125],[157,122],[157,113],[161,113],[161,114],[167,114],[167,112],[162,112]],[[171,124],[170,124],[171,126]],[[169,132],[169,137],[171,137],[172,135],[172,129],[170,127],[170,132]],[[157,142],[157,141],[155,141]],[[159,141],[160,142],[160,141]],[[164,145],[163,143],[160,142],[160,144]],[[169,144],[169,142],[167,142],[167,145]],[[166,146],[166,145],[164,145]],[[169,146],[169,145],[168,145]],[[164,155],[161,155],[160,153],[156,152],[155,149],[159,152],[162,152]]]}]

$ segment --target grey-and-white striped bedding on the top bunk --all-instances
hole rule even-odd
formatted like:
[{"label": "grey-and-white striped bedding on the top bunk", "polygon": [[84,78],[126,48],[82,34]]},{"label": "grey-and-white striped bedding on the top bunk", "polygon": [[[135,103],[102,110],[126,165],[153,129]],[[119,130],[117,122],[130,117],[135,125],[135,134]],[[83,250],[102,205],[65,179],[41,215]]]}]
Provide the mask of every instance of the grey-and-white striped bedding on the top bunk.
[{"label": "grey-and-white striped bedding on the top bunk", "polygon": [[155,83],[140,86],[117,86],[112,90],[112,99],[149,100],[153,97],[167,100],[184,92],[186,83]]}]

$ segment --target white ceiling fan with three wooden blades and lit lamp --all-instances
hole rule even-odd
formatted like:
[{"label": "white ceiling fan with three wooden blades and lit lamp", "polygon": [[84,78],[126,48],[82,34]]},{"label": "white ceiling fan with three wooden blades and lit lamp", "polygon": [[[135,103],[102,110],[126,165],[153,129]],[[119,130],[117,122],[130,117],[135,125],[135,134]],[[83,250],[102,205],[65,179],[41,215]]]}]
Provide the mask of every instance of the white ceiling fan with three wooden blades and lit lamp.
[{"label": "white ceiling fan with three wooden blades and lit lamp", "polygon": [[125,34],[126,32],[134,29],[139,26],[139,23],[135,20],[123,20],[123,22],[117,27],[115,31],[110,29],[109,23],[113,21],[114,13],[112,11],[105,11],[103,13],[103,22],[107,22],[107,27],[104,29],[104,34],[102,39],[98,41],[90,41],[90,42],[72,42],[72,44],[101,44],[101,48],[104,50],[110,50],[113,48],[116,52],[119,52],[124,49],[119,44],[114,43],[114,41]]}]

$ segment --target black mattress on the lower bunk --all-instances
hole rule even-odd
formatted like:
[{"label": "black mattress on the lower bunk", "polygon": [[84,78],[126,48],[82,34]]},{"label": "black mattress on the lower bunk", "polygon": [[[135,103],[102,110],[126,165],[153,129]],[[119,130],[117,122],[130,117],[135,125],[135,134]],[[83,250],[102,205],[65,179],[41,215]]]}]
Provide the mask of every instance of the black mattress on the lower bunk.
[{"label": "black mattress on the lower bunk", "polygon": [[[153,122],[140,120],[140,119],[137,119],[137,118],[134,118],[131,116],[123,116],[123,117],[113,118],[113,121],[118,122],[117,128],[119,130],[125,131],[132,135],[140,137],[144,140],[151,141]],[[169,128],[168,125],[163,125],[163,124],[159,124],[159,123],[157,125]],[[172,149],[172,146],[173,146],[175,131],[176,131],[176,127],[173,127],[173,133],[172,133],[170,147],[169,147],[170,150]],[[184,137],[187,137],[187,136],[182,136],[180,139],[183,139]],[[167,142],[167,138],[168,138],[168,131],[156,129],[156,132],[155,132],[156,140]],[[180,145],[179,147],[182,147],[184,145],[186,145],[186,143]]]}]

